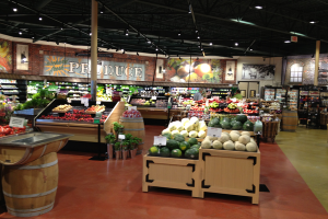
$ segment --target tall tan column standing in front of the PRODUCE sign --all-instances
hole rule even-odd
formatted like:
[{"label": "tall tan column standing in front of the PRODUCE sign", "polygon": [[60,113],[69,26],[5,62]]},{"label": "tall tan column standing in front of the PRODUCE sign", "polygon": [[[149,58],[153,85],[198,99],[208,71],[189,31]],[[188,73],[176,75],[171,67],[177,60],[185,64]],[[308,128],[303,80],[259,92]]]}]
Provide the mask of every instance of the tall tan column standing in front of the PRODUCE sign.
[{"label": "tall tan column standing in front of the PRODUCE sign", "polygon": [[97,38],[98,38],[98,2],[91,0],[91,96],[97,97]]}]

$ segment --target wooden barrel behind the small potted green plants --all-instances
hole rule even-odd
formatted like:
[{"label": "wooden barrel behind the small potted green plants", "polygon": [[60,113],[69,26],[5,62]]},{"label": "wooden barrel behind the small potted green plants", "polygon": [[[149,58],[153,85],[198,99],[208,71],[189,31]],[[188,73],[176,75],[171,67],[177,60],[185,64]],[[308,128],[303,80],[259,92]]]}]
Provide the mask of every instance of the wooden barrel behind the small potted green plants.
[{"label": "wooden barrel behind the small potted green plants", "polygon": [[143,143],[144,143],[143,118],[120,117],[119,123],[125,126],[124,134],[131,134],[133,137],[138,137],[142,139],[142,141],[138,146],[138,153],[142,152]]}]

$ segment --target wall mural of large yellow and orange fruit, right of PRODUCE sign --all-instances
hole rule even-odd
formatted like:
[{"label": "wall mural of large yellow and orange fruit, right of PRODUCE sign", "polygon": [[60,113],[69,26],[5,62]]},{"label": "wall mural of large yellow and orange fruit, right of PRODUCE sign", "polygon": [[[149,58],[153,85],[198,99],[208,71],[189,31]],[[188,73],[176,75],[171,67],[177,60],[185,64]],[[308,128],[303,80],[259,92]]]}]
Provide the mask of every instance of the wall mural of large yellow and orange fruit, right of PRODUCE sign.
[{"label": "wall mural of large yellow and orange fruit, right of PRODUCE sign", "polygon": [[168,77],[172,82],[222,83],[224,69],[222,59],[192,58],[190,64],[189,58],[171,58],[167,61],[166,79]]}]

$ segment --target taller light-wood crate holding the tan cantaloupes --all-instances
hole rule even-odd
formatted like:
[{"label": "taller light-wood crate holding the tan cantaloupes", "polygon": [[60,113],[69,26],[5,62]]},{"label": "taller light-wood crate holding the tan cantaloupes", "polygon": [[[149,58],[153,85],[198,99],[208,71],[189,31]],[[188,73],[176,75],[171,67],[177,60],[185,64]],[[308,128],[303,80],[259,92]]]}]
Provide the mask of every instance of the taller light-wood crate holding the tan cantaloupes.
[{"label": "taller light-wood crate holding the tan cantaloupes", "polygon": [[260,151],[199,149],[201,170],[200,197],[204,193],[221,193],[259,200]]}]

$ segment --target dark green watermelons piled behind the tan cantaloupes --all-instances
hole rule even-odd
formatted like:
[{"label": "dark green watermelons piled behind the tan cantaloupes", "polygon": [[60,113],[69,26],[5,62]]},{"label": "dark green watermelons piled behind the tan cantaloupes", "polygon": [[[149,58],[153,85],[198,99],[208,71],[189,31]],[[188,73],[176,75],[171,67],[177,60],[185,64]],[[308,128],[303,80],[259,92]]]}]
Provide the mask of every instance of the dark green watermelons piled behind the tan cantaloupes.
[{"label": "dark green watermelons piled behind the tan cantaloupes", "polygon": [[218,118],[214,117],[210,120],[209,127],[216,127],[223,129],[233,129],[233,130],[254,130],[254,125],[250,120],[248,120],[247,116],[244,114],[236,115],[233,118],[223,117]]}]

